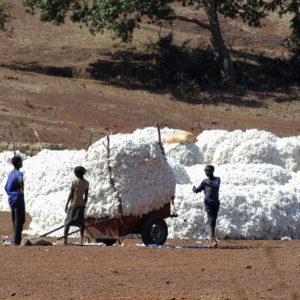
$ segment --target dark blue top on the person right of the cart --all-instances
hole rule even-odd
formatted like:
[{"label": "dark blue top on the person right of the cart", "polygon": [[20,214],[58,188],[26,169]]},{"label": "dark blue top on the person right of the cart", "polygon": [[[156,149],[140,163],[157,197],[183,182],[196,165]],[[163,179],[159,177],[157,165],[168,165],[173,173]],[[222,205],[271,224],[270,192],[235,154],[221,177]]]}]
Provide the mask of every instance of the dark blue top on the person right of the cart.
[{"label": "dark blue top on the person right of the cart", "polygon": [[196,193],[204,190],[204,202],[207,205],[220,205],[219,188],[221,184],[220,177],[213,177],[212,179],[204,179],[196,188]]}]

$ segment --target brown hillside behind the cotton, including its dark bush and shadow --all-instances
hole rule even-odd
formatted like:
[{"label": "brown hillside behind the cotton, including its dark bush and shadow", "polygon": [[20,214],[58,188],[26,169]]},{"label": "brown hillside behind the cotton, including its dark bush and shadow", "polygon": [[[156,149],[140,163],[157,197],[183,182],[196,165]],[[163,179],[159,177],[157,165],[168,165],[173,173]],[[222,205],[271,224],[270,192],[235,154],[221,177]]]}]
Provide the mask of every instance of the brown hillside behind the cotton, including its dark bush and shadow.
[{"label": "brown hillside behind the cotton, including its dark bush and shadow", "polygon": [[[9,141],[9,117],[26,122],[16,130],[18,141],[35,142],[34,124],[43,141],[70,148],[85,147],[90,128],[100,138],[157,121],[196,133],[255,127],[300,134],[299,85],[291,80],[289,52],[281,44],[291,15],[270,13],[262,28],[220,17],[239,70],[237,82],[228,85],[208,31],[193,23],[158,27],[144,18],[132,42],[122,43],[107,30],[99,36],[80,29],[68,19],[72,12],[56,27],[41,23],[38,11],[26,15],[21,1],[6,2],[14,34],[0,35],[3,141]],[[203,10],[177,6],[176,12],[207,21]]]}]

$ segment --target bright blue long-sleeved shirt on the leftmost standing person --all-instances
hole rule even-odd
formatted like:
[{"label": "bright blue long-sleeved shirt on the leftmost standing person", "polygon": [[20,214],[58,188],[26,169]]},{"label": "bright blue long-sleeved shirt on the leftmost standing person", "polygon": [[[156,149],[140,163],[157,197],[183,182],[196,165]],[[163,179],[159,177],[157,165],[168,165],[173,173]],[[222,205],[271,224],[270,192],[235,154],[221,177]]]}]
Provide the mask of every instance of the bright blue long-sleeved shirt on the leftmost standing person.
[{"label": "bright blue long-sleeved shirt on the leftmost standing person", "polygon": [[23,187],[23,173],[18,170],[13,170],[9,173],[6,185],[4,187],[7,195],[9,205],[24,203]]}]

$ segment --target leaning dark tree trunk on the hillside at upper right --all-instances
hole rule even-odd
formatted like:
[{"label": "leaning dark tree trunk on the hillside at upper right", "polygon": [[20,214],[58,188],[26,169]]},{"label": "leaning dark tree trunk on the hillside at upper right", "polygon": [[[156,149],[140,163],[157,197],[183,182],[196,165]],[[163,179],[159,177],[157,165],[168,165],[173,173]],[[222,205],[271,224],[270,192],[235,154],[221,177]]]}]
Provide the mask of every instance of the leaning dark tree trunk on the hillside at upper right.
[{"label": "leaning dark tree trunk on the hillside at upper right", "polygon": [[222,69],[225,72],[226,77],[231,81],[236,81],[236,73],[233,62],[229,55],[228,49],[225,45],[224,39],[222,37],[222,32],[220,28],[218,13],[215,9],[206,8],[206,14],[210,23],[210,33],[212,37],[212,44],[217,51]]}]

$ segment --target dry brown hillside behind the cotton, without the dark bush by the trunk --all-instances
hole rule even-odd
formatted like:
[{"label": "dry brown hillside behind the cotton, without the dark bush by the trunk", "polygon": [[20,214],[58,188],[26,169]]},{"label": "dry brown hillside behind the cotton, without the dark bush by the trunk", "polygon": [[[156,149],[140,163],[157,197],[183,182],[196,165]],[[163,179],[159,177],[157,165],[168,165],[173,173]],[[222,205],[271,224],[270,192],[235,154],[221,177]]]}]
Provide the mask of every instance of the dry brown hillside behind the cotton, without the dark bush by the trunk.
[{"label": "dry brown hillside behind the cotton, without the dark bush by the trunk", "polygon": [[[83,147],[92,128],[98,139],[108,131],[129,132],[156,122],[196,134],[247,128],[279,136],[300,134],[299,87],[288,82],[284,72],[270,74],[272,79],[267,76],[274,59],[287,57],[281,42],[289,34],[288,20],[269,17],[262,28],[253,29],[240,20],[222,19],[227,43],[240,62],[249,64],[248,76],[259,84],[223,90],[203,87],[189,99],[137,84],[142,72],[131,78],[145,44],[157,39],[152,25],[143,26],[133,43],[122,44],[111,40],[109,33],[93,36],[70,22],[60,27],[41,23],[24,13],[20,1],[11,2],[13,30],[0,35],[2,141],[10,141],[8,125],[19,143],[36,142],[36,127],[42,142],[70,148]],[[194,25],[176,23],[163,29],[170,31],[178,45],[188,39],[192,46],[209,42],[207,32]],[[267,67],[265,77],[257,73],[255,78],[255,72]]]}]

